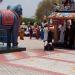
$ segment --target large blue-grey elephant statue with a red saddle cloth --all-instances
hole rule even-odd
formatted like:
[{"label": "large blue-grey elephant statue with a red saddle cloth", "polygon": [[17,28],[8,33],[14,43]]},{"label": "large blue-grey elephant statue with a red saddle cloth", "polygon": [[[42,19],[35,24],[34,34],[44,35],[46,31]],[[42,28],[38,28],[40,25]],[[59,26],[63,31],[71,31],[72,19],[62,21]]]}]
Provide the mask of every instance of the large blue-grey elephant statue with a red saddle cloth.
[{"label": "large blue-grey elephant statue with a red saddle cloth", "polygon": [[0,10],[0,42],[7,43],[7,48],[11,48],[11,43],[12,47],[18,45],[17,39],[21,15],[21,5],[17,5],[13,9],[8,6],[6,10]]}]

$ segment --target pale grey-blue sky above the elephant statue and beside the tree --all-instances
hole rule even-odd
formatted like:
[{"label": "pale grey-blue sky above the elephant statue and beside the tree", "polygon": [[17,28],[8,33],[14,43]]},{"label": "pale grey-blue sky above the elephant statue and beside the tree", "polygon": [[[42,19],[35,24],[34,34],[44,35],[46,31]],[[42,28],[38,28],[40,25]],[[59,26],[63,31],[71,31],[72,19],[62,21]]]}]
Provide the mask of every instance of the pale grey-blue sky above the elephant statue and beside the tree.
[{"label": "pale grey-blue sky above the elephant statue and beside the tree", "polygon": [[35,16],[40,1],[42,0],[3,0],[3,2],[0,3],[0,10],[6,9],[8,5],[15,6],[21,4],[23,8],[23,16],[29,18]]}]

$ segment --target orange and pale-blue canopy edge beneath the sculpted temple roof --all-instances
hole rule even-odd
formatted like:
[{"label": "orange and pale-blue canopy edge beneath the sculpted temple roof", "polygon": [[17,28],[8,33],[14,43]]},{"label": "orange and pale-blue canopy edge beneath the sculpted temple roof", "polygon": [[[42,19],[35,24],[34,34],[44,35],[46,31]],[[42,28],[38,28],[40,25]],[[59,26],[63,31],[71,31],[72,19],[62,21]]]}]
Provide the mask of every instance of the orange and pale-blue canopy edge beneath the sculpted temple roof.
[{"label": "orange and pale-blue canopy edge beneath the sculpted temple roof", "polygon": [[54,12],[48,16],[51,19],[75,19],[75,13],[66,13],[66,12]]}]

